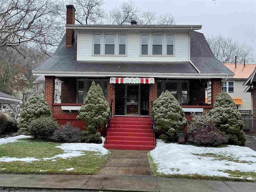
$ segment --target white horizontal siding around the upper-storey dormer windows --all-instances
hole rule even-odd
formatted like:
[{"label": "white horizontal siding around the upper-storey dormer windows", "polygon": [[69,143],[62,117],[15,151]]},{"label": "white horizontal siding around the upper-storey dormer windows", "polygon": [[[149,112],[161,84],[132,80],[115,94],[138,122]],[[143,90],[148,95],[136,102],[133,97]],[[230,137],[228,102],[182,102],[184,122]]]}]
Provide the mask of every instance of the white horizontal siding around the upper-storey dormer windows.
[{"label": "white horizontal siding around the upper-storey dormer windows", "polygon": [[[79,30],[77,60],[103,61],[188,61],[189,36],[185,33],[174,34],[174,56],[140,56],[140,33],[127,34],[127,56],[92,56],[93,33]],[[104,46],[104,44],[101,44]],[[165,45],[163,45],[165,46]]]}]

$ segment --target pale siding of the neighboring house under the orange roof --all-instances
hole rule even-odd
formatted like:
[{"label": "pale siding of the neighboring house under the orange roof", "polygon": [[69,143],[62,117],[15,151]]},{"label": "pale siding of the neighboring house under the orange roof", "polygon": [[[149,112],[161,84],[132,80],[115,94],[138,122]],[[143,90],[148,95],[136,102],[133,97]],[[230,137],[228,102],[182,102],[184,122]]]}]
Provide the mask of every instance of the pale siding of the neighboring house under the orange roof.
[{"label": "pale siding of the neighboring house under the orange roof", "polygon": [[[229,80],[232,81],[232,80]],[[252,110],[252,97],[251,93],[244,93],[245,88],[243,87],[244,81],[235,80],[234,93],[228,93],[231,97],[240,97],[244,104],[238,107],[239,110]]]}]

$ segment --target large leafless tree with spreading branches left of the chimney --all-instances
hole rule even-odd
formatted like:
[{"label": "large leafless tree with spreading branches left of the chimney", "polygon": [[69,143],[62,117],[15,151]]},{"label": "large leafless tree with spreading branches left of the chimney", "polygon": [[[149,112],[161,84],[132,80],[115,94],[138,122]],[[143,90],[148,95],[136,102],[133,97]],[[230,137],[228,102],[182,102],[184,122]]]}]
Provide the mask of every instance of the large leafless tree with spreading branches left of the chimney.
[{"label": "large leafless tree with spreading branches left of the chimney", "polygon": [[50,54],[58,45],[57,9],[53,0],[4,0],[0,1],[0,48],[18,49],[29,44]]}]

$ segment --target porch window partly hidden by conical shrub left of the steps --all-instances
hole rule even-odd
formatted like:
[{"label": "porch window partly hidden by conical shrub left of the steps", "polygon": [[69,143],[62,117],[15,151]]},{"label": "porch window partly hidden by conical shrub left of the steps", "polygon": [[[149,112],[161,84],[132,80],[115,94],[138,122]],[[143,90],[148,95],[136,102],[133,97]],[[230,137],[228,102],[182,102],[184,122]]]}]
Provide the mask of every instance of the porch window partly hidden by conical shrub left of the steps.
[{"label": "porch window partly hidden by conical shrub left of the steps", "polygon": [[99,84],[102,88],[104,97],[107,98],[107,85],[108,80],[107,79],[77,79],[76,83],[76,102],[77,103],[84,103],[85,98],[87,96],[87,92],[90,89],[90,86],[92,85],[92,81],[95,82],[95,84]]}]

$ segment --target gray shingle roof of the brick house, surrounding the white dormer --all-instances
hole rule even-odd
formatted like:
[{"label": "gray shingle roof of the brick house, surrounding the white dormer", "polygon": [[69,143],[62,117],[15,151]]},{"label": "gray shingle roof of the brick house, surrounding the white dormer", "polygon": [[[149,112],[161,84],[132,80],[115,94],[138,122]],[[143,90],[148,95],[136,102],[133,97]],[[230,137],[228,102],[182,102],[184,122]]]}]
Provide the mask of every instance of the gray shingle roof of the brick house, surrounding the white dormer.
[{"label": "gray shingle roof of the brick house, surrounding the white dormer", "polygon": [[[77,39],[76,33],[75,39]],[[35,71],[198,73],[190,62],[77,61],[76,48],[76,40],[72,47],[66,47],[64,36],[54,56],[37,67]],[[202,73],[232,73],[214,58],[209,49],[204,35],[192,32],[191,60],[196,67]]]}]

